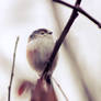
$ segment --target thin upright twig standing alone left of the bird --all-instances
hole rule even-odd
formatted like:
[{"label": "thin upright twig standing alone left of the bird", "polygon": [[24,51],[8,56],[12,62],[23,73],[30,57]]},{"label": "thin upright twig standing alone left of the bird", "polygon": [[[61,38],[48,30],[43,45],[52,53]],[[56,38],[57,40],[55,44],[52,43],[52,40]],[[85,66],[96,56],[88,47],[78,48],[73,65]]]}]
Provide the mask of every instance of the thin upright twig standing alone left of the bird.
[{"label": "thin upright twig standing alone left of the bird", "polygon": [[15,46],[14,46],[12,71],[11,71],[10,85],[9,85],[9,89],[8,89],[9,90],[8,101],[10,101],[10,98],[11,98],[11,86],[12,86],[13,75],[14,75],[15,53],[16,53],[18,42],[19,42],[19,36],[16,37]]}]

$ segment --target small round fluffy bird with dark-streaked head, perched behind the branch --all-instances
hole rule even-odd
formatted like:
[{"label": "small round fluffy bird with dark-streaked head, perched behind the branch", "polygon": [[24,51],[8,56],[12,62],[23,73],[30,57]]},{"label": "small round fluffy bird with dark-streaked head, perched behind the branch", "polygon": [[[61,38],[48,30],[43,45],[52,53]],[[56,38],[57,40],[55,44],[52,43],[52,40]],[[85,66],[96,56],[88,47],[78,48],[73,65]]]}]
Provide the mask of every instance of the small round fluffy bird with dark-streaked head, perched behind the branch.
[{"label": "small round fluffy bird with dark-streaked head, perched behind the branch", "polygon": [[[53,32],[46,29],[38,29],[34,31],[27,41],[26,45],[26,58],[31,67],[42,75],[49,57],[53,53],[55,43],[53,40]],[[56,67],[57,56],[54,59],[50,68],[50,74]]]}]

